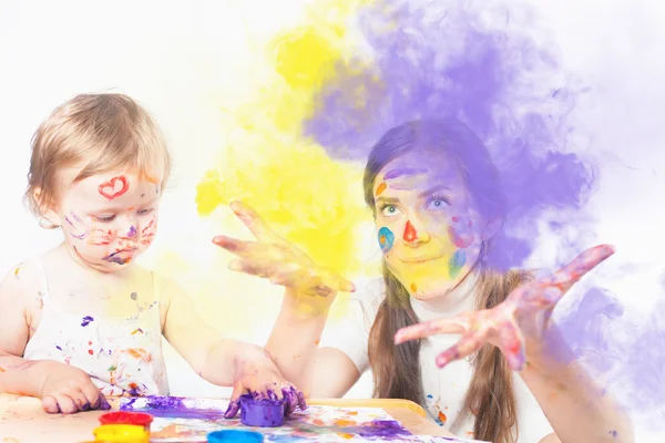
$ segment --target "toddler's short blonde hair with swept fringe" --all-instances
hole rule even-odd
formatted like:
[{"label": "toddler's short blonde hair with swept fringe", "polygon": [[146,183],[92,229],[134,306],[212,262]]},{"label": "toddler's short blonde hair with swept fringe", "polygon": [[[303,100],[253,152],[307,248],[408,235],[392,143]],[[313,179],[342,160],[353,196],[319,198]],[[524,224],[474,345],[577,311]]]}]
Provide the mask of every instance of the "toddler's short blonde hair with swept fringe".
[{"label": "toddler's short blonde hair with swept fringe", "polygon": [[76,166],[83,168],[74,183],[122,169],[147,179],[162,173],[163,187],[171,157],[160,128],[134,100],[117,93],[81,94],[58,106],[32,137],[24,197],[40,224],[60,204],[59,173]]}]

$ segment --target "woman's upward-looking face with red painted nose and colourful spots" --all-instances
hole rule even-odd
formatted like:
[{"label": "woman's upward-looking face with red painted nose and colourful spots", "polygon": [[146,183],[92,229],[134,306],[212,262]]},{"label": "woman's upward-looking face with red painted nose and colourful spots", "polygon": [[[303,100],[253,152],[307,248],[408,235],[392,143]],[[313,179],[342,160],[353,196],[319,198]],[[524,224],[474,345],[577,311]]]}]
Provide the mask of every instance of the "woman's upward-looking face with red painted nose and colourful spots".
[{"label": "woman's upward-looking face with red painted nose and colourful spots", "polygon": [[419,300],[446,295],[478,260],[483,222],[448,156],[411,152],[374,184],[379,246],[388,268]]}]

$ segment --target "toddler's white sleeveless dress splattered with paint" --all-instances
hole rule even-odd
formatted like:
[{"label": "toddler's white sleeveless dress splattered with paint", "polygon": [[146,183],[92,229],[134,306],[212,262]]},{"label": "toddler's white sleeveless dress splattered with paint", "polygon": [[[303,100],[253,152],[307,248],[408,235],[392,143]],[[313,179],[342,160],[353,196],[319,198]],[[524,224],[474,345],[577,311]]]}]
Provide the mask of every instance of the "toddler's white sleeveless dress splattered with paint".
[{"label": "toddler's white sleeveless dress splattered with paint", "polygon": [[[43,309],[23,358],[80,368],[104,395],[167,395],[158,302],[129,318],[66,312],[49,296],[44,268],[40,260],[35,262],[43,276]],[[156,295],[153,300],[158,300]]]}]

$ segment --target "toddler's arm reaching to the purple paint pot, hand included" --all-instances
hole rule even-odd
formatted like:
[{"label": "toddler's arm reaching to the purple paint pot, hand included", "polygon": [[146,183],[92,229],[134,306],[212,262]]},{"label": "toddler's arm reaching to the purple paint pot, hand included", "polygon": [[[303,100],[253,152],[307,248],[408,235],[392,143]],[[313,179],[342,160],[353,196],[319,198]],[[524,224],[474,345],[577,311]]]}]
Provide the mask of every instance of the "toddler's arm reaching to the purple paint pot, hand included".
[{"label": "toddler's arm reaching to the purple paint pot, hand included", "polygon": [[245,392],[259,398],[286,396],[289,412],[297,405],[305,409],[303,394],[282,377],[263,348],[223,338],[201,318],[191,298],[174,281],[162,280],[162,296],[166,340],[200,377],[213,384],[233,387],[227,416],[236,414],[237,399]]}]

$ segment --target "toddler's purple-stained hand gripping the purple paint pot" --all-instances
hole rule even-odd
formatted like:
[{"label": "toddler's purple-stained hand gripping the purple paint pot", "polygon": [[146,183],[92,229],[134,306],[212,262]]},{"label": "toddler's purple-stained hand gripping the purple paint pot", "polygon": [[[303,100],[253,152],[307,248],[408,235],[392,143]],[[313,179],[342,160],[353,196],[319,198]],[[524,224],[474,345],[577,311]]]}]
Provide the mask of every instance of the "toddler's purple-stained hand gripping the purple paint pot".
[{"label": "toddler's purple-stained hand gripping the purple paint pot", "polygon": [[282,400],[286,402],[285,414],[289,415],[300,408],[307,409],[305,395],[296,387],[286,381],[270,359],[268,352],[252,344],[243,349],[243,356],[236,361],[236,372],[231,403],[224,413],[233,419],[241,409],[241,395],[250,393],[257,400]]}]

